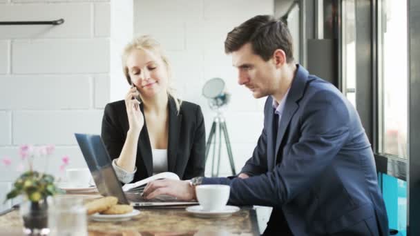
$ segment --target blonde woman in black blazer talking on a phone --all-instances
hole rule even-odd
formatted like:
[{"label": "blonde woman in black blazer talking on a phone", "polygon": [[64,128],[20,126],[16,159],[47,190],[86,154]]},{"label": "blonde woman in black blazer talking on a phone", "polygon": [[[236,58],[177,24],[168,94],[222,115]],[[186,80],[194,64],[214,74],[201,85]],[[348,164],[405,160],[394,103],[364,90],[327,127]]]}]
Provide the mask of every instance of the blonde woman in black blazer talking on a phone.
[{"label": "blonde woman in black blazer talking on a phone", "polygon": [[204,175],[205,130],[200,106],[180,101],[169,87],[160,44],[136,37],[122,55],[124,100],[107,104],[102,139],[118,179],[131,183],[170,171],[181,179]]}]

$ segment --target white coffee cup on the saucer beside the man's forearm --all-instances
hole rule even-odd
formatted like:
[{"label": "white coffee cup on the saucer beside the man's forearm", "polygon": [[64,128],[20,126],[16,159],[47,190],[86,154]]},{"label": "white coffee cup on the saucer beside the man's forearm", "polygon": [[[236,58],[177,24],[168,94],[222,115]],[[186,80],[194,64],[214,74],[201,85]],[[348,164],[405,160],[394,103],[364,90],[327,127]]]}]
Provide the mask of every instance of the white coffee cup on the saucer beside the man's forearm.
[{"label": "white coffee cup on the saucer beside the man's forearm", "polygon": [[195,187],[195,193],[203,210],[217,211],[226,206],[231,187],[220,184],[204,184]]}]

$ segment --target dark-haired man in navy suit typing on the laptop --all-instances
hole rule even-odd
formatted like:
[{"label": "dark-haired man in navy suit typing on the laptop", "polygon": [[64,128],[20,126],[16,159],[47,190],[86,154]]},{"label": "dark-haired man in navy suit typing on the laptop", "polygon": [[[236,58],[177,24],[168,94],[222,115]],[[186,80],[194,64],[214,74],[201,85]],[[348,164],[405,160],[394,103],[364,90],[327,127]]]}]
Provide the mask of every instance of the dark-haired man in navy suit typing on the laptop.
[{"label": "dark-haired man in navy suit typing on the laptop", "polygon": [[253,17],[229,32],[225,52],[238,83],[267,97],[252,157],[238,177],[158,180],[144,196],[193,199],[197,184],[226,184],[229,204],[273,207],[265,235],[388,235],[359,115],[331,83],[294,63],[287,26]]}]

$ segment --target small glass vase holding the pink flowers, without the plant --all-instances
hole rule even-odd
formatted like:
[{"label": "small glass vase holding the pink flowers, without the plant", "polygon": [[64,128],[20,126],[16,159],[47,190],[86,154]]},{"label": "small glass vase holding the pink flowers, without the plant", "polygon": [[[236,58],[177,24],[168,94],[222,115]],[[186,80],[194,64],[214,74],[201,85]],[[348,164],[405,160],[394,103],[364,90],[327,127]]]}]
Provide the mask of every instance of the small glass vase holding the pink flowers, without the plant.
[{"label": "small glass vase holding the pink flowers, without the plant", "polygon": [[48,235],[48,204],[46,199],[40,201],[25,200],[21,203],[19,213],[23,221],[25,235]]}]

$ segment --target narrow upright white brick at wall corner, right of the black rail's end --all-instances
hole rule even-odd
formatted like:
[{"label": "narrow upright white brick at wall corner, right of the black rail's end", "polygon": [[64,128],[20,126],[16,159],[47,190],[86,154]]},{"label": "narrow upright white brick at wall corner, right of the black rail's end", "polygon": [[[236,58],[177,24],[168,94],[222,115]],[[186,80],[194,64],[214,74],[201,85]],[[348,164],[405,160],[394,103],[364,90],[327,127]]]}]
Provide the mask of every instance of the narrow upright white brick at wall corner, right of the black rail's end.
[{"label": "narrow upright white brick at wall corner, right of the black rail's end", "polygon": [[95,3],[95,37],[111,36],[111,4]]}]

